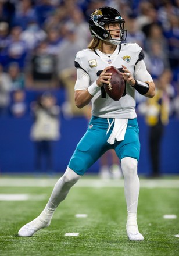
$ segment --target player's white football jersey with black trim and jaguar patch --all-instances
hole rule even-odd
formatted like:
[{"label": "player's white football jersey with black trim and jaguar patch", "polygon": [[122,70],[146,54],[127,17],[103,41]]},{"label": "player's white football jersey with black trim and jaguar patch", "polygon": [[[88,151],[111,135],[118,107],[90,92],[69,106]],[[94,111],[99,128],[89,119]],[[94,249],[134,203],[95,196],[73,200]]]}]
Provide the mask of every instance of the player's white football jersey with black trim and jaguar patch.
[{"label": "player's white football jersey with black trim and jaguar patch", "polygon": [[[77,79],[75,90],[86,90],[98,79],[102,70],[107,66],[114,66],[121,71],[123,68],[121,65],[124,65],[135,79],[144,82],[152,81],[142,59],[144,59],[144,54],[138,44],[120,44],[110,57],[99,50],[84,49],[79,51],[76,55],[75,66],[83,69],[89,79],[88,84],[83,83],[83,81],[79,83]],[[140,69],[138,62],[142,63],[142,69]],[[137,65],[138,68],[136,68]],[[119,101],[114,101],[106,94],[102,86],[101,90],[92,98],[92,115],[101,118],[134,119],[137,116],[135,113],[135,89],[126,83],[123,96]]]}]

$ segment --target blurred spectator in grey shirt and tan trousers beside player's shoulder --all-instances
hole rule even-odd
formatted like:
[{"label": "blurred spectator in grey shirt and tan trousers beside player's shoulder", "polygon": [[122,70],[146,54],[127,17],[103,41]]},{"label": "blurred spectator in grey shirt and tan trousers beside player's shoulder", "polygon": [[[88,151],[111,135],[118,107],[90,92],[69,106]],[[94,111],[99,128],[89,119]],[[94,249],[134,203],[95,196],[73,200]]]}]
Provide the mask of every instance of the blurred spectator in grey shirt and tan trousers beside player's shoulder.
[{"label": "blurred spectator in grey shirt and tan trousers beside player's shoulder", "polygon": [[71,116],[85,115],[87,108],[79,109],[74,103],[74,84],[76,82],[76,68],[74,67],[74,58],[77,51],[87,46],[85,40],[81,40],[76,33],[75,26],[65,24],[63,33],[66,37],[60,45],[57,56],[57,72],[60,83],[66,89],[66,102],[62,106],[62,111],[66,118]]}]

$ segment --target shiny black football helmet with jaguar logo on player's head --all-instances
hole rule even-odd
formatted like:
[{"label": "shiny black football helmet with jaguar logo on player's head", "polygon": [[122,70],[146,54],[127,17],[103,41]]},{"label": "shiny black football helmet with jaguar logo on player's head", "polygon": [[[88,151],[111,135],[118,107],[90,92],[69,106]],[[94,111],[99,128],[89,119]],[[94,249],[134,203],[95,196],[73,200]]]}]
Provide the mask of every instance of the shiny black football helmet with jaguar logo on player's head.
[{"label": "shiny black football helmet with jaguar logo on player's head", "polygon": [[[110,31],[105,29],[106,24],[118,22],[120,24],[120,38],[113,39]],[[101,7],[96,9],[90,16],[89,26],[92,37],[98,37],[101,40],[111,42],[114,45],[120,44],[126,40],[127,30],[124,29],[125,20],[120,13],[112,7]]]}]

